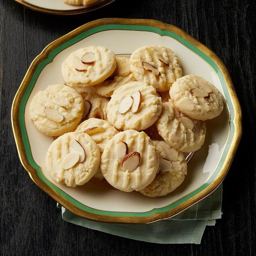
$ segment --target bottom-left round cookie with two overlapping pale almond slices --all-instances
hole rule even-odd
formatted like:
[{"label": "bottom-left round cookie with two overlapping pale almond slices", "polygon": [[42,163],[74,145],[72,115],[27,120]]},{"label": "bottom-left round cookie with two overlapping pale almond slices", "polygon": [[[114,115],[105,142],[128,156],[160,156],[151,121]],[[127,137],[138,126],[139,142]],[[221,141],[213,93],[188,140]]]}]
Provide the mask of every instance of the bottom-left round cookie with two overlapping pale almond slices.
[{"label": "bottom-left round cookie with two overlapping pale almond slices", "polygon": [[86,133],[66,133],[50,145],[46,168],[58,183],[69,187],[83,185],[99,167],[99,148]]}]

